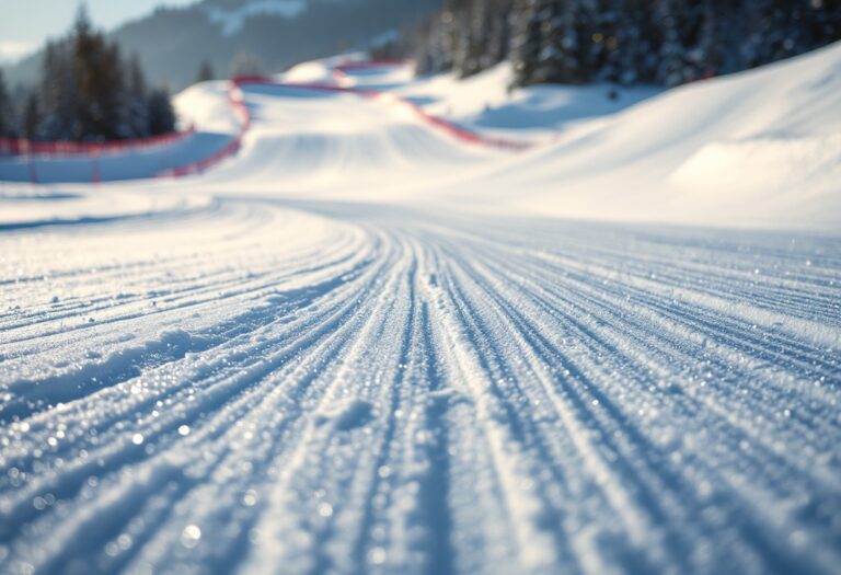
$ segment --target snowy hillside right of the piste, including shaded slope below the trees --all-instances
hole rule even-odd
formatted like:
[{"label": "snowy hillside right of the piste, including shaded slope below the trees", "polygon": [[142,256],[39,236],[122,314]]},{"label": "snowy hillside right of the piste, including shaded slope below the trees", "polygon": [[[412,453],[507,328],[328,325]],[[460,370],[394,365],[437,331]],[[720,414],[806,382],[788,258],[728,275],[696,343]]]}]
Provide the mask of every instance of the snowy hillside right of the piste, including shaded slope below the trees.
[{"label": "snowy hillside right of the piste, including shaded slope below the trees", "polygon": [[509,79],[502,65],[400,89],[494,134],[541,128],[533,153],[452,192],[466,203],[591,219],[841,225],[841,43],[667,91],[545,85],[509,95]]}]

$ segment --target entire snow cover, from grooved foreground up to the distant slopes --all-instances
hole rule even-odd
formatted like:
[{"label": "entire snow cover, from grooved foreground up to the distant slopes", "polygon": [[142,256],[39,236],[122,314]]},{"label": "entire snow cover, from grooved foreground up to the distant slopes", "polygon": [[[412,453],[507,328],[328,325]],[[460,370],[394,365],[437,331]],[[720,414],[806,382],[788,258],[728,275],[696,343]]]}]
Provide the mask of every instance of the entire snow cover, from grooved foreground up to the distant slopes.
[{"label": "entire snow cover, from grooved foreground up to the distant slopes", "polygon": [[841,573],[841,48],[506,73],[342,82],[529,151],[245,85],[203,175],[0,186],[0,573]]}]

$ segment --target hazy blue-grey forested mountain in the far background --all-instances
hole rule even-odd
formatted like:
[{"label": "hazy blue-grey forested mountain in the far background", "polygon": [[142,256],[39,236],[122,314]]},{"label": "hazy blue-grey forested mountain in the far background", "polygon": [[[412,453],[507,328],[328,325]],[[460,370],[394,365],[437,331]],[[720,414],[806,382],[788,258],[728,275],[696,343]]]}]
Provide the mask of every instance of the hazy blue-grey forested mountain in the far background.
[{"label": "hazy blue-grey forested mountain in the far background", "polygon": [[[136,53],[157,83],[178,90],[207,60],[228,77],[240,55],[279,71],[302,60],[362,48],[440,8],[441,0],[203,0],[186,8],[159,8],[111,36]],[[68,23],[69,26],[69,23]],[[43,54],[7,71],[11,83],[31,83]]]}]

